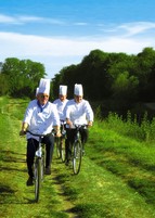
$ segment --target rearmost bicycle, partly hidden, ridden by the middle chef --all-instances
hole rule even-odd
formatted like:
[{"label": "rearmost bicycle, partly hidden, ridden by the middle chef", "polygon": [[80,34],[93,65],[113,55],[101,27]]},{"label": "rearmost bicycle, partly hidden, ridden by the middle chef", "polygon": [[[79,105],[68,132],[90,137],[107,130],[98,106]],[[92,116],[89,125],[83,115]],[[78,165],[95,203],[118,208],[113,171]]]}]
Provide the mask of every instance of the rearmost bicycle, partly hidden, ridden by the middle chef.
[{"label": "rearmost bicycle, partly hidden, ridden by the middle chef", "polygon": [[61,158],[62,162],[65,162],[65,138],[66,138],[66,130],[65,130],[65,121],[61,120],[61,137],[55,139],[56,142],[56,155],[57,158]]}]

